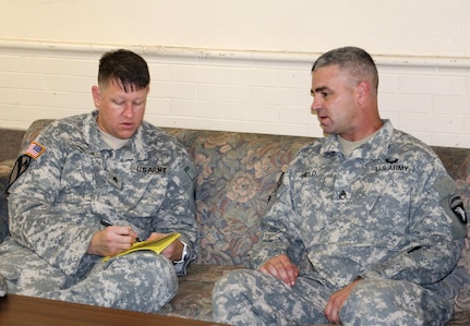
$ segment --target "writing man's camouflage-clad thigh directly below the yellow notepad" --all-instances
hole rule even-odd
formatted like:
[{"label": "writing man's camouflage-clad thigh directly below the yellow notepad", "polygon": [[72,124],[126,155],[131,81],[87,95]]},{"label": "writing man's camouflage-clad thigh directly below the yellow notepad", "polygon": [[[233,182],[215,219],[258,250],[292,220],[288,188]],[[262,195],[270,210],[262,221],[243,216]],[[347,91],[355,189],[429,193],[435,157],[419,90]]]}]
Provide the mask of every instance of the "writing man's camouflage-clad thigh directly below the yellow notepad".
[{"label": "writing man's camouflage-clad thigh directly below the yellow notepad", "polygon": [[173,264],[149,251],[97,263],[80,282],[49,298],[85,304],[156,312],[178,291]]}]

